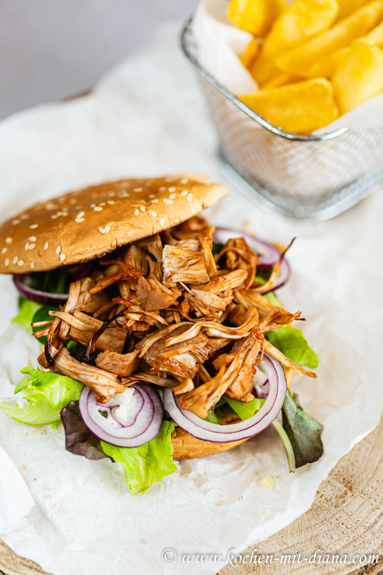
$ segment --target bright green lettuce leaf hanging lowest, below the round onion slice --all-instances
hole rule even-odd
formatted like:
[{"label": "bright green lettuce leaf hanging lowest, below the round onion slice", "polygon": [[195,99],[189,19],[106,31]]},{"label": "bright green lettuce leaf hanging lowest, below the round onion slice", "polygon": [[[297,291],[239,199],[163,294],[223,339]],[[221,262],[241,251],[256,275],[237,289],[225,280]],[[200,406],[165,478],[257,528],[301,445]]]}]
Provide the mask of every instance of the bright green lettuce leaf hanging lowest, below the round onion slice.
[{"label": "bright green lettuce leaf hanging lowest, below the round onion slice", "polygon": [[127,480],[129,493],[145,493],[156,481],[162,481],[177,471],[171,454],[173,421],[163,421],[159,434],[140,447],[116,447],[101,442],[102,451],[114,461],[121,463]]}]

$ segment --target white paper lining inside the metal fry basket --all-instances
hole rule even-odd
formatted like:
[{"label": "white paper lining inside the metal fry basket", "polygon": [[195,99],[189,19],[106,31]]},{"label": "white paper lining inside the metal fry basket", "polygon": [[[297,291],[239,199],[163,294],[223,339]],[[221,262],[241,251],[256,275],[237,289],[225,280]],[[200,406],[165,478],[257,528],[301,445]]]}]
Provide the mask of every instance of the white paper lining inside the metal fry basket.
[{"label": "white paper lining inside the metal fry basket", "polygon": [[[252,40],[250,33],[233,26],[226,16],[227,0],[201,0],[193,18],[198,45],[198,61],[221,85],[233,94],[251,94],[258,85],[239,56]],[[259,40],[262,43],[262,40]],[[316,134],[340,128],[383,126],[383,93],[371,98]]]}]

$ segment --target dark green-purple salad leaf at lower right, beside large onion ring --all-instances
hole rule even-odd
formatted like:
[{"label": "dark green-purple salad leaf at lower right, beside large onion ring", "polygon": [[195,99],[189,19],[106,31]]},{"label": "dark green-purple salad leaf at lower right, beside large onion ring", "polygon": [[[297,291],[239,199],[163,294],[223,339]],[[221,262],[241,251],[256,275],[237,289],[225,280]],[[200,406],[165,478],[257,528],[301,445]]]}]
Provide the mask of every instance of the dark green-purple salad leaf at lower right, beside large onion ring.
[{"label": "dark green-purple salad leaf at lower right, beside large onion ring", "polygon": [[296,466],[317,461],[323,454],[320,439],[323,425],[303,411],[298,397],[288,391],[282,409],[283,427],[292,444]]}]

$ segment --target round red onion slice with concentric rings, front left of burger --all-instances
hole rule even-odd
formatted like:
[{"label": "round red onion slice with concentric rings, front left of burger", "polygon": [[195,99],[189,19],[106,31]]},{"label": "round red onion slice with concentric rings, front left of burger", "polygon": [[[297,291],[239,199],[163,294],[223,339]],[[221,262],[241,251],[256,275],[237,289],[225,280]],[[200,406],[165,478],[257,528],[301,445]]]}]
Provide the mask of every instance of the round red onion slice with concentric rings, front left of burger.
[{"label": "round red onion slice with concentric rings, front left of burger", "polygon": [[[139,447],[158,435],[163,420],[163,405],[158,392],[148,384],[135,384],[132,388],[132,404],[127,405],[125,415],[121,416],[117,411],[121,407],[118,394],[108,403],[101,404],[91,389],[83,387],[79,398],[82,419],[102,441],[117,447]],[[100,412],[106,413],[107,417]]]}]

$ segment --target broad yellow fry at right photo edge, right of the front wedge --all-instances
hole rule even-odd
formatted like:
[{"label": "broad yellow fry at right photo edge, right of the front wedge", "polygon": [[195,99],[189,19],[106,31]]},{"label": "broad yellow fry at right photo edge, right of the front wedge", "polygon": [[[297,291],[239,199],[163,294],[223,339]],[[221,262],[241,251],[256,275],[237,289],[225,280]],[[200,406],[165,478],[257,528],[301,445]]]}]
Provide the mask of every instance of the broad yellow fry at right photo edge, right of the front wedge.
[{"label": "broad yellow fry at right photo edge, right of the front wedge", "polygon": [[332,84],[342,114],[373,98],[383,91],[383,50],[355,41]]}]

